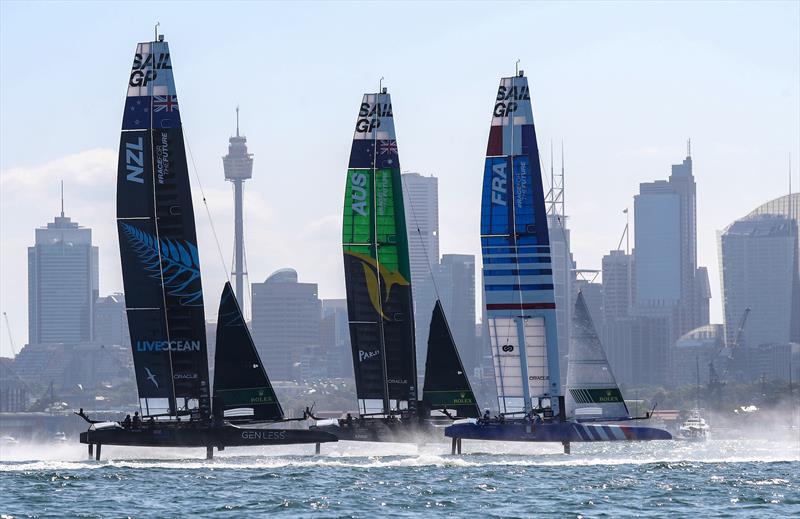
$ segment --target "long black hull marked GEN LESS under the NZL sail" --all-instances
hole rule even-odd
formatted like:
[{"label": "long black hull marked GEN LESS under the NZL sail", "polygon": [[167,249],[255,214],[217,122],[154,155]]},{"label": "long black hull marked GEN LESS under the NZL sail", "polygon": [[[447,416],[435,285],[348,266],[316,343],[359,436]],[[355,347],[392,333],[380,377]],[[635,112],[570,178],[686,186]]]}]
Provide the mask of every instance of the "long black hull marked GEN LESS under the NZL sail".
[{"label": "long black hull marked GEN LESS under the NZL sail", "polygon": [[82,432],[81,443],[136,447],[245,447],[335,442],[336,436],[304,429],[223,427],[109,427]]}]

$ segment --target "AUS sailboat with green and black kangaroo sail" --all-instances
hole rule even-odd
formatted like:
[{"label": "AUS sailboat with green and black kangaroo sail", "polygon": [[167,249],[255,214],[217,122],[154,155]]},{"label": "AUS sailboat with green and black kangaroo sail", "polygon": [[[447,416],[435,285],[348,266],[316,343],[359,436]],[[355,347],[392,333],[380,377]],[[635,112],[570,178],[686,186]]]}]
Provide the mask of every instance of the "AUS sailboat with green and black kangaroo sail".
[{"label": "AUS sailboat with green and black kangaroo sail", "polygon": [[[348,414],[316,426],[340,440],[416,442],[421,434],[437,432],[426,420],[431,410],[448,404],[457,415],[458,409],[475,405],[468,384],[460,381],[437,386],[426,393],[428,400],[418,401],[402,189],[392,100],[382,87],[364,94],[359,106],[344,200],[342,249],[358,416]],[[448,340],[452,344],[441,305],[438,308],[432,316],[437,351],[441,344],[448,348]],[[443,355],[452,361],[452,355]],[[442,359],[433,362],[438,365]],[[458,363],[455,370],[463,374]]]}]

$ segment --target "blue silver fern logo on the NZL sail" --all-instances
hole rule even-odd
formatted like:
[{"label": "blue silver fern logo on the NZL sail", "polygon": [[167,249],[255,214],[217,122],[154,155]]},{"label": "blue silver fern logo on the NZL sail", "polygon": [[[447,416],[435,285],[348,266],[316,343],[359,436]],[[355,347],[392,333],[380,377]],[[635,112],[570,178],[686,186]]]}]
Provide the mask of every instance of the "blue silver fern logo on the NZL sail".
[{"label": "blue silver fern logo on the NZL sail", "polygon": [[186,306],[203,304],[200,258],[197,247],[186,240],[158,239],[136,227],[120,223],[136,256],[150,277],[161,280],[164,289]]}]

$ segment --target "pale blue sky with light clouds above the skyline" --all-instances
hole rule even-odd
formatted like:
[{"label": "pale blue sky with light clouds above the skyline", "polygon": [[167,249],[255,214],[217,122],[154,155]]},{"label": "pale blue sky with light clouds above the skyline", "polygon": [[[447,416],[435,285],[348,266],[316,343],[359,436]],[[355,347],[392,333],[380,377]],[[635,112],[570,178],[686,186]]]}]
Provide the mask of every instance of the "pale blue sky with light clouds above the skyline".
[{"label": "pale blue sky with light clouds above the skyline", "polygon": [[[722,315],[716,234],[800,187],[800,2],[0,2],[0,309],[27,341],[27,251],[60,211],[93,229],[100,294],[122,291],[116,157],[135,45],[170,43],[206,300],[230,270],[221,157],[241,131],[251,282],[293,267],[344,297],[341,210],[361,96],[392,94],[404,171],[439,178],[441,252],[480,255],[499,78],[529,77],[539,146],[564,143],[578,268],[616,248],[640,182],[692,140],[698,264]],[[556,167],[560,158],[556,158]],[[545,184],[545,190],[548,185]],[[203,203],[203,195],[207,201]],[[207,210],[206,210],[207,207]],[[210,214],[210,219],[209,219]],[[218,252],[214,232],[219,239]],[[222,257],[220,257],[222,256]],[[210,305],[213,306],[213,305]],[[206,308],[216,317],[216,308]],[[10,354],[5,324],[0,355]]]}]

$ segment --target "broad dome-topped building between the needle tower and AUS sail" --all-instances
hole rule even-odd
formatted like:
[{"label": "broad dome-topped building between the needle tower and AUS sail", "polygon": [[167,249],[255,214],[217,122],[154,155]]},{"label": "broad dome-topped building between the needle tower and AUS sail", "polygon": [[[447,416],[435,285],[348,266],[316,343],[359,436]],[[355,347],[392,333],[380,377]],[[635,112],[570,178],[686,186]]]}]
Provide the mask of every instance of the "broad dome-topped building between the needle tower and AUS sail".
[{"label": "broad dome-topped building between the needle tower and AUS sail", "polygon": [[[307,373],[309,352],[319,347],[321,304],[316,283],[299,283],[293,269],[253,283],[253,340],[269,376],[291,380]],[[321,360],[320,360],[321,362]]]}]

